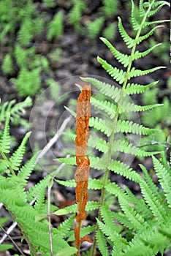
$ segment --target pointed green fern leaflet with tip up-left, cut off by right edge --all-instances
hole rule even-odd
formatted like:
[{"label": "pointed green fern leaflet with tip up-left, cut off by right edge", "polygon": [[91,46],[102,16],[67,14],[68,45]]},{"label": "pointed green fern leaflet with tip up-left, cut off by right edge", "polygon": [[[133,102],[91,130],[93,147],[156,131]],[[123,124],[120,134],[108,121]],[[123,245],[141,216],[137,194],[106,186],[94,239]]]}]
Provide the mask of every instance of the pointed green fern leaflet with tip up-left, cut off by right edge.
[{"label": "pointed green fern leaflet with tip up-left, cut off by right edge", "polygon": [[162,189],[164,190],[164,195],[167,198],[169,207],[171,208],[171,175],[170,168],[166,169],[161,162],[159,162],[156,157],[153,157],[154,170],[156,170],[156,175],[159,177],[159,182]]}]

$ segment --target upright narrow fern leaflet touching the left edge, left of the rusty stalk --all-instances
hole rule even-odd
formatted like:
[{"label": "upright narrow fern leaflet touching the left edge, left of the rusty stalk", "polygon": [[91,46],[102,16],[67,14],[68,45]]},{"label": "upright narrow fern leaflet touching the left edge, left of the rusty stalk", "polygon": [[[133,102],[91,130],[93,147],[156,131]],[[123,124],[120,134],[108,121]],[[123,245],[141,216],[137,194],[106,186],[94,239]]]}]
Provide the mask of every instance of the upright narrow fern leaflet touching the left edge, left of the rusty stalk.
[{"label": "upright narrow fern leaflet touching the left edge, left of the rusty stalk", "polygon": [[10,120],[10,115],[8,113],[7,119],[4,125],[4,130],[0,138],[0,152],[4,154],[8,154],[10,149],[9,120]]}]

